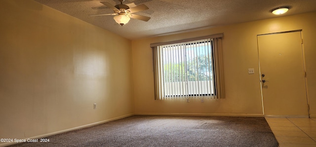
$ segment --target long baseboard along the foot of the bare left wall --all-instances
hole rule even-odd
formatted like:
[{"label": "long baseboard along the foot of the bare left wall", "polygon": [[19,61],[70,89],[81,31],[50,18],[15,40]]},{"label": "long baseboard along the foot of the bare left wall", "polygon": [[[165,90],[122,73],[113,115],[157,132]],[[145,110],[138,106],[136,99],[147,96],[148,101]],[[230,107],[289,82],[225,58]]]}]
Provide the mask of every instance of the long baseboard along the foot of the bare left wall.
[{"label": "long baseboard along the foot of the bare left wall", "polygon": [[[107,119],[107,120],[103,120],[103,121],[99,121],[99,122],[94,122],[94,123],[90,123],[90,124],[86,124],[86,125],[82,125],[82,126],[66,129],[66,130],[61,130],[61,131],[57,131],[57,132],[52,132],[52,133],[47,133],[47,134],[43,134],[43,135],[39,135],[39,136],[33,136],[33,137],[25,138],[25,140],[27,140],[27,139],[45,138],[45,137],[48,137],[48,136],[52,136],[52,135],[56,135],[56,134],[60,134],[60,133],[65,133],[65,132],[69,132],[69,131],[73,131],[73,130],[78,130],[78,129],[82,129],[82,128],[86,128],[86,127],[102,124],[102,123],[105,123],[105,122],[109,122],[109,121],[113,121],[113,120],[117,120],[117,119],[121,119],[121,118],[127,118],[127,117],[130,117],[130,116],[133,116],[133,115],[134,114],[128,114],[128,115],[120,116],[120,117],[117,117],[117,118],[111,118],[111,119]],[[0,144],[0,147],[6,147],[6,146],[14,145],[14,144],[17,144],[17,143],[14,143],[14,142],[12,142],[12,143],[4,143],[4,144]]]}]

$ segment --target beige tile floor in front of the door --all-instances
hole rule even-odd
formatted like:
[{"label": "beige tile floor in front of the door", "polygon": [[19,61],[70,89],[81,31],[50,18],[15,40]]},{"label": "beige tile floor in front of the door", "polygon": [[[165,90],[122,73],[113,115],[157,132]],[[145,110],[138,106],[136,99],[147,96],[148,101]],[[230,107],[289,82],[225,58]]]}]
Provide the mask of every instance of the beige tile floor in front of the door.
[{"label": "beige tile floor in front of the door", "polygon": [[316,147],[316,118],[266,118],[279,147]]}]

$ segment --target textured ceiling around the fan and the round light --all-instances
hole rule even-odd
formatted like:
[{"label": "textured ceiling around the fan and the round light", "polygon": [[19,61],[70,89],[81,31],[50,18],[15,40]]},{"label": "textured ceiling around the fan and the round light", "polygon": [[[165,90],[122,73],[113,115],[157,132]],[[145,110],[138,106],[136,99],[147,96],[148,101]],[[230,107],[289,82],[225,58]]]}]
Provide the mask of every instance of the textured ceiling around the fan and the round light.
[{"label": "textured ceiling around the fan and the round light", "polygon": [[[113,13],[100,1],[119,4],[118,0],[36,0],[127,39],[138,39],[175,32],[223,26],[316,11],[316,0],[125,0],[130,7],[144,3],[148,10],[135,14],[151,17],[148,22],[131,19],[120,26],[114,16],[89,16]],[[289,6],[287,13],[271,10]]]}]

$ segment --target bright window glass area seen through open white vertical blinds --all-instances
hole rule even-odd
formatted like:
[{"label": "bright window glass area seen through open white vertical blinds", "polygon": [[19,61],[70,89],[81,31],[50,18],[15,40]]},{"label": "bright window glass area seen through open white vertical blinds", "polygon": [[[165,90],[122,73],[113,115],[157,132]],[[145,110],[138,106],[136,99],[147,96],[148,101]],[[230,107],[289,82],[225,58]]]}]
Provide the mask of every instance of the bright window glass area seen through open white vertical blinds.
[{"label": "bright window glass area seen through open white vertical blinds", "polygon": [[211,40],[162,47],[165,96],[213,95]]}]

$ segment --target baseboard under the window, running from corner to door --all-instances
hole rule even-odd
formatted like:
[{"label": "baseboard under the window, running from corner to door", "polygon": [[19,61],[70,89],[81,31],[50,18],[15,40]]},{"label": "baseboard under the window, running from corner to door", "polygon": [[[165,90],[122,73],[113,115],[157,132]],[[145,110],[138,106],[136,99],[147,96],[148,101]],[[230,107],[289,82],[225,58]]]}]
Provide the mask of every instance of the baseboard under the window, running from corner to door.
[{"label": "baseboard under the window, running from corner to door", "polygon": [[263,114],[135,113],[140,116],[264,117]]}]

